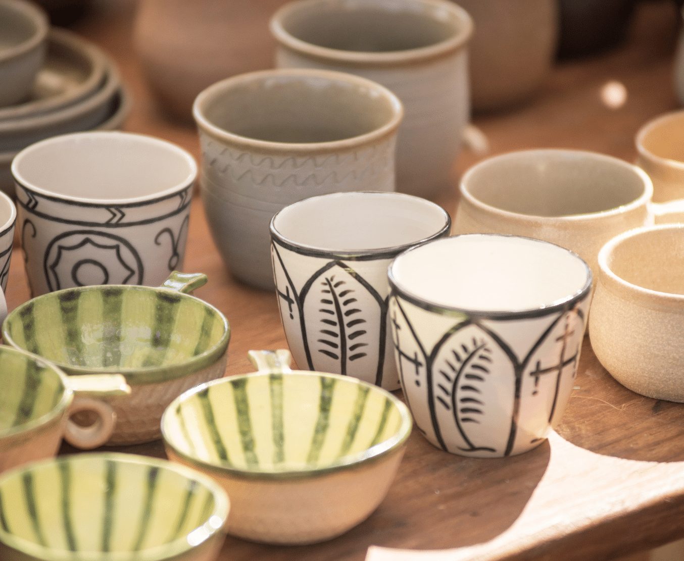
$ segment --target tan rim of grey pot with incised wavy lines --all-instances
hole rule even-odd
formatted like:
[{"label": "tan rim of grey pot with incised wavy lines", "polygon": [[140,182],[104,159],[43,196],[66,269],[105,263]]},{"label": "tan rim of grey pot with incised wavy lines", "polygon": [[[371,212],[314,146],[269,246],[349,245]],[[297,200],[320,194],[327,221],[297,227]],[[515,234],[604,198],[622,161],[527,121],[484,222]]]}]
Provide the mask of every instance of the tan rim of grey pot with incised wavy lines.
[{"label": "tan rim of grey pot with incised wavy lines", "polygon": [[[373,92],[376,96],[384,98],[387,104],[392,107],[393,115],[389,122],[376,128],[374,131],[358,135],[356,137],[345,138],[341,140],[333,140],[327,142],[276,142],[268,140],[259,140],[250,137],[244,137],[226,131],[226,129],[216,126],[205,115],[205,109],[214,100],[220,98],[222,94],[233,87],[245,83],[258,83],[269,78],[291,78],[297,79],[302,77],[318,78],[327,81],[345,82],[348,84],[357,85],[365,88],[368,92]],[[368,97],[371,94],[367,94]],[[321,152],[343,150],[345,148],[356,148],[362,144],[367,144],[377,139],[381,139],[393,133],[399,128],[399,124],[404,118],[404,106],[399,98],[395,96],[386,87],[375,83],[365,78],[360,78],[352,74],[345,74],[345,72],[333,72],[332,70],[307,70],[303,68],[291,68],[284,70],[260,70],[259,72],[248,72],[247,74],[239,74],[232,78],[228,78],[217,82],[207,87],[206,90],[200,92],[195,99],[192,106],[192,115],[195,118],[200,129],[209,133],[213,137],[228,141],[233,144],[246,146],[248,148],[257,150],[267,150],[269,152]]]}]

